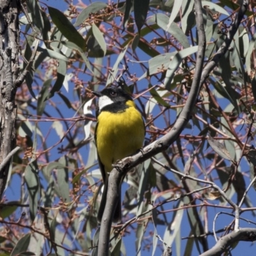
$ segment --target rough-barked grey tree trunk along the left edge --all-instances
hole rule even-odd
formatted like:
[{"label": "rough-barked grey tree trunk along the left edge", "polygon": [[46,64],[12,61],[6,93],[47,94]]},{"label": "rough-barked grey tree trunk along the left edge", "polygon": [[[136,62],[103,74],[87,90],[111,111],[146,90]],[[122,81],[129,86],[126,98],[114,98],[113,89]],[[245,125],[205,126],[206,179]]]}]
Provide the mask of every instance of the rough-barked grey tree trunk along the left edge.
[{"label": "rough-barked grey tree trunk along the left edge", "polygon": [[[15,147],[15,81],[19,72],[19,0],[0,0],[0,163]],[[0,170],[0,200],[11,161]]]}]

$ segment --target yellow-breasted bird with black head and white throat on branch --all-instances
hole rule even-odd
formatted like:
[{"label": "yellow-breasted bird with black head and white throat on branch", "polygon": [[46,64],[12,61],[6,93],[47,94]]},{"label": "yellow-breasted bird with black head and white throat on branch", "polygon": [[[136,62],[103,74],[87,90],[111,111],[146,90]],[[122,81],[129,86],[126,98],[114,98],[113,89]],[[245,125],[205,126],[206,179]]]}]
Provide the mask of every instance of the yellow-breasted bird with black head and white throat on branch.
[{"label": "yellow-breasted bird with black head and white throat on branch", "polygon": [[[132,97],[121,88],[109,87],[93,94],[99,97],[96,108],[95,143],[104,182],[97,217],[100,223],[106,205],[108,177],[113,169],[112,164],[140,150],[145,138],[145,125]],[[119,200],[113,214],[113,222],[119,223],[121,219],[120,184]]]}]

